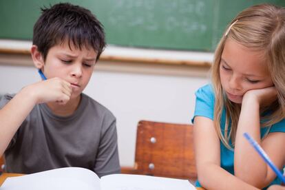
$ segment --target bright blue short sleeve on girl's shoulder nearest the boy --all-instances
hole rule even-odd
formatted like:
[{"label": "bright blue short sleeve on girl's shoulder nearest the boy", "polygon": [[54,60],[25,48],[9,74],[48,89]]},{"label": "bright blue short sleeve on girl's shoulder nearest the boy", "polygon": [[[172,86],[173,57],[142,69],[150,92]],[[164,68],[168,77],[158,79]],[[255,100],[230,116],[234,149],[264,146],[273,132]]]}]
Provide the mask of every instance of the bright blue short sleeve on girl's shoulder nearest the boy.
[{"label": "bright blue short sleeve on girl's shoulder nearest the boy", "polygon": [[213,87],[211,85],[205,85],[200,87],[195,93],[196,104],[192,123],[196,116],[204,116],[213,120],[213,107],[215,96],[213,94]]}]

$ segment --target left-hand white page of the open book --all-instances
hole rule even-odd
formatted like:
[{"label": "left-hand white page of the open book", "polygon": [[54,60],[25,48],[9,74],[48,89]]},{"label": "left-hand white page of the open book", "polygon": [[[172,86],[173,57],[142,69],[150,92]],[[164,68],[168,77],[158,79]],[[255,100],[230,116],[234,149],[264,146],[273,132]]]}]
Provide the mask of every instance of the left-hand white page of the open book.
[{"label": "left-hand white page of the open book", "polygon": [[65,167],[7,178],[0,190],[100,190],[100,179],[89,169]]}]

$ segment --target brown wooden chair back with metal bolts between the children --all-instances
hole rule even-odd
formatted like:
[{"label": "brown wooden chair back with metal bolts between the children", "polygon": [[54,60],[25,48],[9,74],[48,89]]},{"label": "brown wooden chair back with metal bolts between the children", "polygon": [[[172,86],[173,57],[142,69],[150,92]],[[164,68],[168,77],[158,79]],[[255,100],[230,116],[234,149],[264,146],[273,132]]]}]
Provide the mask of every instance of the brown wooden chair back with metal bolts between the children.
[{"label": "brown wooden chair back with metal bolts between the children", "polygon": [[141,120],[136,133],[134,169],[122,173],[197,179],[193,126]]}]

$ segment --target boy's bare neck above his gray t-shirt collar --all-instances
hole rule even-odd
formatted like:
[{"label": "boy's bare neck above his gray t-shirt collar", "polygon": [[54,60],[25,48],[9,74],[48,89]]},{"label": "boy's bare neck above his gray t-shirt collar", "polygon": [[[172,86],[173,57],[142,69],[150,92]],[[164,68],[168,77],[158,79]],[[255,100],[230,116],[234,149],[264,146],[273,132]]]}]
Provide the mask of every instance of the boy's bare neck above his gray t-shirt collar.
[{"label": "boy's bare neck above his gray t-shirt collar", "polygon": [[81,101],[81,95],[68,101],[65,105],[59,105],[59,103],[55,102],[46,103],[46,105],[56,116],[70,116],[75,112],[80,101]]}]

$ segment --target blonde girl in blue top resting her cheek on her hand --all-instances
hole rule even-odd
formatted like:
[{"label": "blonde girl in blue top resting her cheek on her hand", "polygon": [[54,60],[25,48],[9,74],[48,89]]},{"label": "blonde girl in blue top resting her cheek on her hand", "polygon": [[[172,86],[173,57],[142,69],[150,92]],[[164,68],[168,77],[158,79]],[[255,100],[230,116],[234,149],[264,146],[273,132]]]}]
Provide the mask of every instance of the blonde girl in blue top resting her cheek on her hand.
[{"label": "blonde girl in blue top resting her cheek on her hand", "polygon": [[285,163],[285,8],[263,4],[233,19],[215,51],[212,85],[196,92],[198,181],[206,189],[257,189],[280,181],[247,132]]}]

